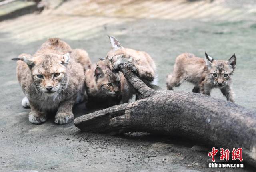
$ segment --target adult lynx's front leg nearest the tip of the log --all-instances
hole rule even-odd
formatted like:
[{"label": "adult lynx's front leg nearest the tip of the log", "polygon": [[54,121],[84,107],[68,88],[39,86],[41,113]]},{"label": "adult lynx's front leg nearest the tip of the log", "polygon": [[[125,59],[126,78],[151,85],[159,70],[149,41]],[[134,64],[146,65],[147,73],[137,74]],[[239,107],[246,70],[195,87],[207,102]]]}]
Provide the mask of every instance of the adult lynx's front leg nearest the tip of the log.
[{"label": "adult lynx's front leg nearest the tip of the log", "polygon": [[55,115],[55,123],[68,124],[74,120],[74,114],[72,113],[72,107],[75,103],[76,97],[72,97],[60,104],[60,107]]}]

